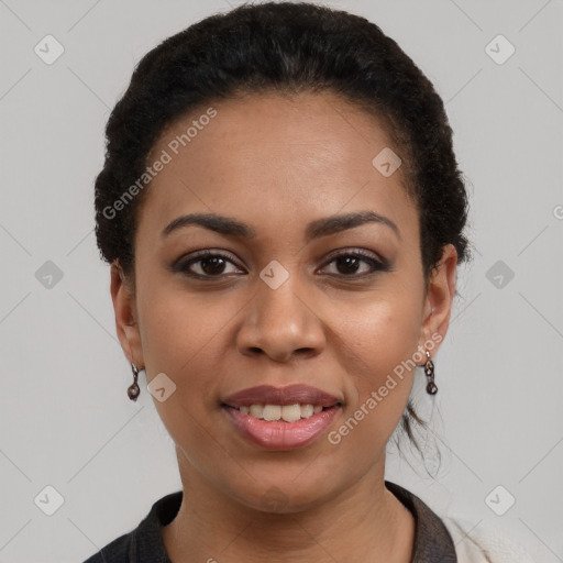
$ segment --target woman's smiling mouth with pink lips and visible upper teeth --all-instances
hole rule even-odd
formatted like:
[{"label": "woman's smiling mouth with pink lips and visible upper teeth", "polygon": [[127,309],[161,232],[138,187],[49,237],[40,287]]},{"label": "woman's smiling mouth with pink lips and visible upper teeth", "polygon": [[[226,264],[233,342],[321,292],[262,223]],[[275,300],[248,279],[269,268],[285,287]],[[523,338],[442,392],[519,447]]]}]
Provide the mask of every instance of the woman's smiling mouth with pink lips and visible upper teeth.
[{"label": "woman's smiling mouth with pink lips and visible upper teeth", "polygon": [[254,445],[292,450],[310,444],[329,428],[342,401],[314,387],[260,386],[221,401],[234,428]]}]

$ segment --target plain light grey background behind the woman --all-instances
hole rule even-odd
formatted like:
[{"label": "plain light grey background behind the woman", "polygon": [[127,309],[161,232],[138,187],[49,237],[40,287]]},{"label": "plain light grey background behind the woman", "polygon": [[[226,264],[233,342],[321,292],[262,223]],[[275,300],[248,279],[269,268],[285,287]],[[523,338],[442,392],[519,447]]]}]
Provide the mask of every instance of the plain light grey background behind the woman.
[{"label": "plain light grey background behind the woman", "polygon": [[[125,395],[92,181],[139,58],[235,3],[0,0],[3,563],[81,561],[180,489],[152,397]],[[432,479],[391,451],[387,477],[441,514],[508,531],[538,562],[563,561],[562,2],[329,5],[376,22],[435,84],[472,203],[475,260],[460,268],[433,412],[421,374],[416,388],[442,465]],[[47,34],[65,49],[52,65],[34,52]],[[516,47],[501,65],[485,51],[498,34]],[[47,261],[63,276],[51,287]],[[34,503],[54,501],[48,485],[64,497],[53,516]],[[485,501],[498,485],[497,506],[516,498],[503,516]]]}]

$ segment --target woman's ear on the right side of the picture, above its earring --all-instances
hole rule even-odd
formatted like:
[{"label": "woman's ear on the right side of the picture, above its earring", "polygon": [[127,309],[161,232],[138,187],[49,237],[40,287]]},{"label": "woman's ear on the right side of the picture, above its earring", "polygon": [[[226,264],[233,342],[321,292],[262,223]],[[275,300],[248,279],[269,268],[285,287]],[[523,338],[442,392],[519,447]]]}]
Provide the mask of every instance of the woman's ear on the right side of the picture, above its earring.
[{"label": "woman's ear on the right side of the picture, above its earring", "polygon": [[424,351],[424,343],[430,341],[434,344],[432,355],[440,347],[450,324],[450,314],[455,297],[456,266],[457,252],[455,246],[446,244],[443,247],[440,262],[428,282],[420,331],[419,349]]}]

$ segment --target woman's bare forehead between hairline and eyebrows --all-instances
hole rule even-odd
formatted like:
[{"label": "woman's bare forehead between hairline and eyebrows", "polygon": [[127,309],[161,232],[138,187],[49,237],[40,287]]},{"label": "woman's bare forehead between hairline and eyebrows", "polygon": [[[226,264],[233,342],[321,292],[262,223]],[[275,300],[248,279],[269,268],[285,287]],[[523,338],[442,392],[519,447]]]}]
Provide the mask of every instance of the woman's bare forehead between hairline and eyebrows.
[{"label": "woman's bare forehead between hairline and eyebrows", "polygon": [[373,164],[389,148],[400,152],[375,115],[334,95],[210,103],[176,120],[153,146],[148,163],[167,163],[147,188],[140,224],[163,229],[191,210],[269,228],[357,209],[412,222],[401,168],[386,177]]}]

